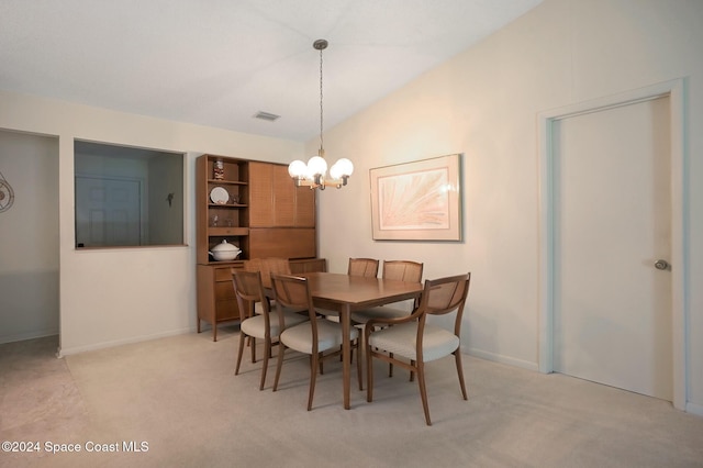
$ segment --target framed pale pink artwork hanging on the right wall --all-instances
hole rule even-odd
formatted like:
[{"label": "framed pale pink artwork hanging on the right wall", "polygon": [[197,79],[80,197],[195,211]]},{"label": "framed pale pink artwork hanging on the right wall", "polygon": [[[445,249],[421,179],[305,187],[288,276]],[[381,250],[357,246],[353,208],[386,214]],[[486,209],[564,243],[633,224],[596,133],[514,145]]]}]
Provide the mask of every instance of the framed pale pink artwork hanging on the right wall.
[{"label": "framed pale pink artwork hanging on the right wall", "polygon": [[461,241],[461,155],[369,170],[375,241]]}]

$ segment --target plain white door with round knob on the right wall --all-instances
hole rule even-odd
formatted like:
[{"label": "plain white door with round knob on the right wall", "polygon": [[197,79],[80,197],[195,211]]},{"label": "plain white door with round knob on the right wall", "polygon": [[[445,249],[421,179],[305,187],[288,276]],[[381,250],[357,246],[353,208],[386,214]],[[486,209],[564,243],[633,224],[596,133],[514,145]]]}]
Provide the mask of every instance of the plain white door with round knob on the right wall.
[{"label": "plain white door with round knob on the right wall", "polygon": [[[672,399],[669,98],[557,120],[554,370]],[[676,266],[673,266],[676,268]]]}]

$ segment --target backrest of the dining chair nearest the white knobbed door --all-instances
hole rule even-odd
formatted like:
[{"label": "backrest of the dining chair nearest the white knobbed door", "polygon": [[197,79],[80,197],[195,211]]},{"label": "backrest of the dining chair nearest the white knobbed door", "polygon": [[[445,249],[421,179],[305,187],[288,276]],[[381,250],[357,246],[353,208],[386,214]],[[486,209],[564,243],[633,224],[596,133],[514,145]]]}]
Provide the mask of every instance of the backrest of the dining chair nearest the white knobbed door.
[{"label": "backrest of the dining chair nearest the white knobbed door", "polygon": [[469,296],[470,282],[470,272],[425,281],[425,288],[420,299],[420,307],[414,312],[414,314],[422,314],[420,316],[419,336],[421,336],[423,332],[427,314],[444,315],[455,310],[457,314],[454,322],[454,334],[457,336],[460,335],[461,316],[464,315],[466,299]]}]

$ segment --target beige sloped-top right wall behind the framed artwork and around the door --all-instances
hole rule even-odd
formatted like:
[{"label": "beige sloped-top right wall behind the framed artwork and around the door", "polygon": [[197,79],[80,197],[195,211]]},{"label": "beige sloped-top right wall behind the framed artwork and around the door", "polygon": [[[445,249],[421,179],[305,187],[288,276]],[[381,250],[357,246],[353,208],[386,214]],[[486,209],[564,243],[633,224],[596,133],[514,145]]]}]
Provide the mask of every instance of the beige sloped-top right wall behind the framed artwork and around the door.
[{"label": "beige sloped-top right wall behind the framed artwork and around the door", "polygon": [[[333,271],[348,256],[424,261],[425,278],[471,270],[462,345],[537,369],[537,114],[688,77],[689,272],[690,285],[703,285],[701,24],[701,1],[546,0],[331,129],[327,158],[347,157],[356,168],[348,188],[319,198],[321,256]],[[369,169],[451,153],[464,154],[465,242],[373,242]],[[701,288],[689,288],[688,311],[688,409],[703,414]]]}]

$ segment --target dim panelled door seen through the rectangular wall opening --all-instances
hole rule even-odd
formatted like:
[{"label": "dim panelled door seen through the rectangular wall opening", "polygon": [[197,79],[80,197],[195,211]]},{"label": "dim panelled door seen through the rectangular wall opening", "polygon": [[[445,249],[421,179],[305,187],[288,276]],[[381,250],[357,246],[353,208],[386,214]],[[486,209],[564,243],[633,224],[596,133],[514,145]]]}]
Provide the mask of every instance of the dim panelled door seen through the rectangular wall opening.
[{"label": "dim panelled door seen through the rectangular wall opening", "polygon": [[141,245],[141,182],[76,177],[76,243]]}]

